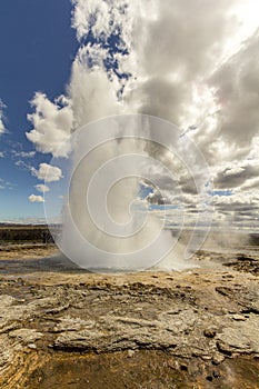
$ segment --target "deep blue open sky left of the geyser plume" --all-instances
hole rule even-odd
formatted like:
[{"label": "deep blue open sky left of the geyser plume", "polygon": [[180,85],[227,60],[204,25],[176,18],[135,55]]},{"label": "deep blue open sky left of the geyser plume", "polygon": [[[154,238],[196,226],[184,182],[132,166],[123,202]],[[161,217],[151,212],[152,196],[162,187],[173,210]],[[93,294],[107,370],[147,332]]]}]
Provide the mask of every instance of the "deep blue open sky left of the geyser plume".
[{"label": "deep blue open sky left of the geyser plume", "polygon": [[[42,203],[28,197],[39,183],[19,152],[34,150],[26,138],[31,129],[27,113],[36,91],[50,99],[64,92],[78,50],[69,0],[8,0],[0,4],[0,99],[6,104],[7,131],[0,137],[0,221],[43,217]],[[14,156],[14,153],[17,156]],[[23,162],[38,167],[51,156],[36,153]],[[9,183],[10,182],[10,183]],[[38,193],[40,194],[40,193]]]}]

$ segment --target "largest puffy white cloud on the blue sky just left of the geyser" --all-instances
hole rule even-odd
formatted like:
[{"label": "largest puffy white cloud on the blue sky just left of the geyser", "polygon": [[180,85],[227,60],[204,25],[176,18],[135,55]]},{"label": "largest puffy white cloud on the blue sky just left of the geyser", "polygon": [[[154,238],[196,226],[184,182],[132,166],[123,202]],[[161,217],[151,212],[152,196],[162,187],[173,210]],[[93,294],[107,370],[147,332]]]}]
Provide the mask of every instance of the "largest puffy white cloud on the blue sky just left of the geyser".
[{"label": "largest puffy white cloud on the blue sky just left of the geyser", "polygon": [[36,93],[31,101],[34,112],[28,114],[33,129],[27,132],[27,138],[34,143],[37,150],[64,157],[69,151],[68,144],[72,129],[73,114],[70,101],[63,96],[51,102],[46,94]]}]

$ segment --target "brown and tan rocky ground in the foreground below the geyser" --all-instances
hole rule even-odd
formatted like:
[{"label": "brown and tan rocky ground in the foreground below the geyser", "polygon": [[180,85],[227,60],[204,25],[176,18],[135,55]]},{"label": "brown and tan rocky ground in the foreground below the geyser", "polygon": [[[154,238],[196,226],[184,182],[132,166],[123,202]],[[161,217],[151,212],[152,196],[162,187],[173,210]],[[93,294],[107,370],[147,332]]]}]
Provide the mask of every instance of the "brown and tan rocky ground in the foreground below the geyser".
[{"label": "brown and tan rocky ground in the foreground below the geyser", "polygon": [[6,249],[1,388],[259,388],[257,248],[117,276],[79,270],[54,247]]}]

